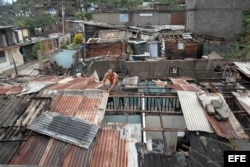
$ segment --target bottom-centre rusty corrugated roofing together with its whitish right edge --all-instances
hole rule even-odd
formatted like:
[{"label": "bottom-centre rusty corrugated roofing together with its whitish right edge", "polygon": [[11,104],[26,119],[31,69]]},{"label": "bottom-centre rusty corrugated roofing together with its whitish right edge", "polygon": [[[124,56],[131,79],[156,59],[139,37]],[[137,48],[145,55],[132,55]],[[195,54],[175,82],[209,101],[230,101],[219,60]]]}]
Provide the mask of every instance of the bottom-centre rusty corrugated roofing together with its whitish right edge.
[{"label": "bottom-centre rusty corrugated roofing together with its whitish right edge", "polygon": [[90,166],[137,167],[136,142],[141,142],[141,124],[103,125],[97,136]]}]

